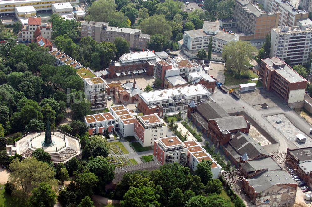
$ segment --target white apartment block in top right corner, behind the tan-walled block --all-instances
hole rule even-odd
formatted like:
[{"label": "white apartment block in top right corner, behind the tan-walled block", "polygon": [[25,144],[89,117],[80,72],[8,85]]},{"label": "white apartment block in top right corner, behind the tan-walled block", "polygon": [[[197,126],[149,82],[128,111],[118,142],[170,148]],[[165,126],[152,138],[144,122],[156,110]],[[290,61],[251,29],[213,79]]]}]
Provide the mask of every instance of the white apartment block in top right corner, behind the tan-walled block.
[{"label": "white apartment block in top right corner, behind the tan-walled block", "polygon": [[278,26],[297,26],[299,19],[308,18],[309,13],[305,10],[298,10],[286,0],[264,0],[264,10],[278,12]]}]

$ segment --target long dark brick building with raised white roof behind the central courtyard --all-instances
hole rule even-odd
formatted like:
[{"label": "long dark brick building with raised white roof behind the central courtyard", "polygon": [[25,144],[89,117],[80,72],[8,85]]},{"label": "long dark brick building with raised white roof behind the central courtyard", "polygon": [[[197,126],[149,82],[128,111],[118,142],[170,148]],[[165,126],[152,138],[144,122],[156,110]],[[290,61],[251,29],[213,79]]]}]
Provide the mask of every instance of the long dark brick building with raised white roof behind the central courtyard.
[{"label": "long dark brick building with raised white roof behind the central courtyard", "polygon": [[154,62],[159,58],[152,51],[125,53],[119,61],[112,61],[107,69],[97,71],[102,78],[116,78],[125,75],[146,73],[154,75]]}]

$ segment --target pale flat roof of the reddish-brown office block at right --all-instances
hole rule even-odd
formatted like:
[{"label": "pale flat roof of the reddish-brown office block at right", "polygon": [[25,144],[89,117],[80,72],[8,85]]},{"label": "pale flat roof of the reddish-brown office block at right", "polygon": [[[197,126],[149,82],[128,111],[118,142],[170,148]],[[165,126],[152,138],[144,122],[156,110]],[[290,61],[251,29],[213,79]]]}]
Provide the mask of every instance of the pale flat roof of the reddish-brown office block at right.
[{"label": "pale flat roof of the reddish-brown office block at right", "polygon": [[[278,57],[261,59],[269,70],[275,70],[280,76],[286,79],[289,83],[306,81],[301,75],[299,75],[295,70],[293,70],[289,65],[287,65],[284,61],[280,60]],[[275,64],[285,64],[282,69],[273,68],[273,63]]]}]

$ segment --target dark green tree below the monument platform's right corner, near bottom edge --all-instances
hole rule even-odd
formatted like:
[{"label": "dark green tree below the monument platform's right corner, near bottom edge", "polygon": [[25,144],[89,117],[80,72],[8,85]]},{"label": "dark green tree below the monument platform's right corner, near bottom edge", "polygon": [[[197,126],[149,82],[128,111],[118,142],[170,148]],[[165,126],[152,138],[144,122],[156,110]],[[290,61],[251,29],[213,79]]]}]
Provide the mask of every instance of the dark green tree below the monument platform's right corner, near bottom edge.
[{"label": "dark green tree below the monument platform's right corner, near bottom edge", "polygon": [[74,174],[78,198],[82,199],[85,198],[85,196],[91,197],[93,194],[93,188],[97,185],[97,182],[99,181],[98,177],[92,172]]}]

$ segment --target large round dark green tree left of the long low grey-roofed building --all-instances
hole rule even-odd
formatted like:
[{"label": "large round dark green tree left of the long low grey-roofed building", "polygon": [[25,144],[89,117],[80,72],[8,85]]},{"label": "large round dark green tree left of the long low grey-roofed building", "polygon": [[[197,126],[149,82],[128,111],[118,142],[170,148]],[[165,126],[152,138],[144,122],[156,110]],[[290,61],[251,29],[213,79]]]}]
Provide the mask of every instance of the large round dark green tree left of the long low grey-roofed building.
[{"label": "large round dark green tree left of the long low grey-roofed building", "polygon": [[99,178],[98,188],[102,193],[105,193],[105,185],[114,179],[114,165],[109,165],[104,157],[97,156],[88,162],[86,168]]}]

